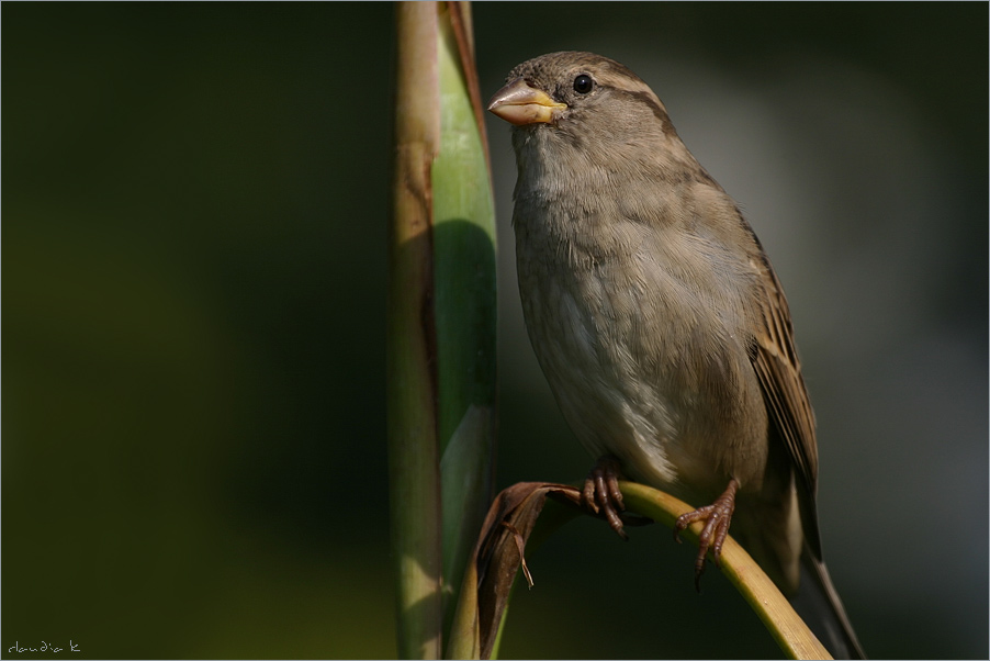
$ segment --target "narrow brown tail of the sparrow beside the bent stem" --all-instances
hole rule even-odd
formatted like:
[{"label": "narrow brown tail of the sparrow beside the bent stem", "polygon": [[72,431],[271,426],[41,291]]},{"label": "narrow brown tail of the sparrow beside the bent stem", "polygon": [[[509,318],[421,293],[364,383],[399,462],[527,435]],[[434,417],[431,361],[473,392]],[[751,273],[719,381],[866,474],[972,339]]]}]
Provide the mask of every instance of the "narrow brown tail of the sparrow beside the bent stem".
[{"label": "narrow brown tail of the sparrow beside the bent stem", "polygon": [[825,563],[807,547],[801,554],[801,584],[791,604],[833,658],[866,659]]}]

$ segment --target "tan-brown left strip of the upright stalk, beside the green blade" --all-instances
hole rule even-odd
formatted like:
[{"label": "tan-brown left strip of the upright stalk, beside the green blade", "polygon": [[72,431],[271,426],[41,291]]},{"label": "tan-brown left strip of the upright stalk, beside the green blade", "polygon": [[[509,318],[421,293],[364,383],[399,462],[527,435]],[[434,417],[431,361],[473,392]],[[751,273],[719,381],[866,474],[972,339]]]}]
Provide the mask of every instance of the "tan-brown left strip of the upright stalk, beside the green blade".
[{"label": "tan-brown left strip of the upright stalk, beside the green blade", "polygon": [[404,659],[439,659],[442,650],[430,182],[440,143],[436,35],[435,3],[396,5],[386,352],[392,551]]}]

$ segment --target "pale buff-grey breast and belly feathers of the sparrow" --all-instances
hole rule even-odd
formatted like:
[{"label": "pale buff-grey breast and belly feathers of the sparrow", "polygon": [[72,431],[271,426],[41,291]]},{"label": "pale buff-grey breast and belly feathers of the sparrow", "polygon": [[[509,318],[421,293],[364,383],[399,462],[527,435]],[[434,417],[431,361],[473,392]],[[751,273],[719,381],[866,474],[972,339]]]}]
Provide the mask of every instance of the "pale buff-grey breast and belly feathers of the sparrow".
[{"label": "pale buff-grey breast and belly feathers of the sparrow", "polygon": [[715,429],[739,417],[754,383],[742,329],[677,264],[690,247],[635,221],[590,212],[576,224],[526,206],[515,225],[527,330],[575,435],[675,493],[721,483],[731,460]]}]

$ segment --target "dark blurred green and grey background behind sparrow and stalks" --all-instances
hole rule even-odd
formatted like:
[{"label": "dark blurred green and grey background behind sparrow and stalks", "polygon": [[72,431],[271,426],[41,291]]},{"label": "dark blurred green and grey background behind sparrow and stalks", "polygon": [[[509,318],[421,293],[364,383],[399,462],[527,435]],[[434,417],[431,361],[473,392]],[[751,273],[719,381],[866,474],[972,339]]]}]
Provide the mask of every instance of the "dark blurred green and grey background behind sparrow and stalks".
[{"label": "dark blurred green and grey background behind sparrow and stalks", "polygon": [[[487,98],[650,82],[787,288],[825,553],[875,658],[987,658],[988,5],[477,3]],[[2,648],[395,654],[384,452],[393,7],[4,3]],[[589,466],[499,214],[498,482]],[[504,657],[777,657],[670,531],[576,522]],[[41,656],[41,654],[30,654]]]}]

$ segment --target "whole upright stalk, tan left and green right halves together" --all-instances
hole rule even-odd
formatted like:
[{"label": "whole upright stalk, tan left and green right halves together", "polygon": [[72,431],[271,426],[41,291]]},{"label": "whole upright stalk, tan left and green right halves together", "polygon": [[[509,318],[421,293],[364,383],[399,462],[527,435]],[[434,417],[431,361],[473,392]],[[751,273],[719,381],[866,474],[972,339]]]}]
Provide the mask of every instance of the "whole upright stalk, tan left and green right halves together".
[{"label": "whole upright stalk, tan left and green right halves together", "polygon": [[400,654],[428,659],[492,497],[495,213],[469,5],[396,9],[392,539]]}]

